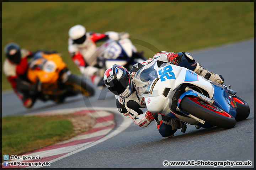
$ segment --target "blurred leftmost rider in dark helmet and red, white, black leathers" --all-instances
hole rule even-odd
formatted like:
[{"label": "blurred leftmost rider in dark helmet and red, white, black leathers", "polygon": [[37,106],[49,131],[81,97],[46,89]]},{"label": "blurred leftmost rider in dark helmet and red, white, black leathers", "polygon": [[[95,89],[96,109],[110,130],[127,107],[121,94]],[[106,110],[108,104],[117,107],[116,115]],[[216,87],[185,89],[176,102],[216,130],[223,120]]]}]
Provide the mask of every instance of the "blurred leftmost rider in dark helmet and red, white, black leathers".
[{"label": "blurred leftmost rider in dark helmet and red, white, black leathers", "polygon": [[14,42],[7,44],[4,52],[6,60],[3,70],[6,78],[23,106],[31,108],[36,100],[33,93],[38,90],[38,85],[32,85],[27,79],[28,58],[31,58],[33,53],[27,49],[20,49],[20,46]]}]

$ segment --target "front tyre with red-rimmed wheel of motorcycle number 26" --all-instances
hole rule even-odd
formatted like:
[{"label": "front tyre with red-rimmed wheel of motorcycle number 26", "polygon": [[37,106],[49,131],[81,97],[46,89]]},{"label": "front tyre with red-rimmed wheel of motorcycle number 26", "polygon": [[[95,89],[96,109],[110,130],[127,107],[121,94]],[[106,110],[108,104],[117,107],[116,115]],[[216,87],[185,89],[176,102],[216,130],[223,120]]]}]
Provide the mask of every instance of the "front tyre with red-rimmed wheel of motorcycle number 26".
[{"label": "front tyre with red-rimmed wheel of motorcycle number 26", "polygon": [[179,108],[219,128],[230,129],[236,124],[235,118],[229,113],[193,96],[183,97]]}]

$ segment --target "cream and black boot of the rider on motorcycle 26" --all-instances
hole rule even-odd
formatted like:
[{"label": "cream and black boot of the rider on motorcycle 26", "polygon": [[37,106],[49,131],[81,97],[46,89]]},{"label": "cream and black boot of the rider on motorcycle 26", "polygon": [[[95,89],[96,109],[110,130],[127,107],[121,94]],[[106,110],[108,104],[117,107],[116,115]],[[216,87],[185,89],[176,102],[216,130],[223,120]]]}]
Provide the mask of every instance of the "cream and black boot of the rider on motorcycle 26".
[{"label": "cream and black boot of the rider on motorcycle 26", "polygon": [[207,80],[215,81],[216,83],[219,83],[219,84],[224,83],[224,78],[222,77],[222,75],[209,72],[208,70],[204,69],[201,66],[201,64],[199,64],[198,62],[196,62],[196,63],[197,63],[197,65],[196,65],[196,68],[194,69],[195,73],[202,75]]}]

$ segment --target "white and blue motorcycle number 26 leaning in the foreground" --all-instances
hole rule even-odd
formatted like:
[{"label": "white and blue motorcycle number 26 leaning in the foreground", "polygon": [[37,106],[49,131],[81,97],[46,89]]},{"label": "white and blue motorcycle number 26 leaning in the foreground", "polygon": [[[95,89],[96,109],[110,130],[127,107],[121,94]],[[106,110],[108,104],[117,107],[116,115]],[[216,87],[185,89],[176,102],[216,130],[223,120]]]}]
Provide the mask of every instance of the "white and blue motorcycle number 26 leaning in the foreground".
[{"label": "white and blue motorcycle number 26 leaning in the foreground", "polygon": [[220,85],[184,67],[155,62],[148,64],[133,78],[137,93],[144,97],[151,113],[159,113],[186,124],[211,128],[233,128],[246,119],[249,105],[237,97],[231,86]]}]

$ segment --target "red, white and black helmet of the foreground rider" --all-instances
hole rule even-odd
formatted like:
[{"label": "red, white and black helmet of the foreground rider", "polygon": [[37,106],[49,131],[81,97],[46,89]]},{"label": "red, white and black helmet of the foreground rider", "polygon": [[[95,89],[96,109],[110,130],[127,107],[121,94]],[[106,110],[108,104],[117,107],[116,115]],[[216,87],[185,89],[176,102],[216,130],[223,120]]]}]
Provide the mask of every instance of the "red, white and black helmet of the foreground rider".
[{"label": "red, white and black helmet of the foreground rider", "polygon": [[104,84],[113,94],[129,97],[132,94],[132,78],[126,68],[114,64],[104,73]]}]

